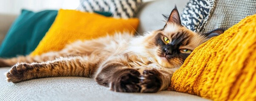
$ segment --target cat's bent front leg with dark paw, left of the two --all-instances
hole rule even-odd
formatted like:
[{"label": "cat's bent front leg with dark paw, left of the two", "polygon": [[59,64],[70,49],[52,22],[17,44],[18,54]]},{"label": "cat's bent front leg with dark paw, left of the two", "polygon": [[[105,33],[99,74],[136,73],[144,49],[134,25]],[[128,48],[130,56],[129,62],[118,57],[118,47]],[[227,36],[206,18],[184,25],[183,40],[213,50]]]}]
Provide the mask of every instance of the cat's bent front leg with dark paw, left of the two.
[{"label": "cat's bent front leg with dark paw, left of the two", "polygon": [[117,92],[140,92],[140,73],[132,69],[125,56],[109,58],[99,66],[95,80],[99,85]]}]

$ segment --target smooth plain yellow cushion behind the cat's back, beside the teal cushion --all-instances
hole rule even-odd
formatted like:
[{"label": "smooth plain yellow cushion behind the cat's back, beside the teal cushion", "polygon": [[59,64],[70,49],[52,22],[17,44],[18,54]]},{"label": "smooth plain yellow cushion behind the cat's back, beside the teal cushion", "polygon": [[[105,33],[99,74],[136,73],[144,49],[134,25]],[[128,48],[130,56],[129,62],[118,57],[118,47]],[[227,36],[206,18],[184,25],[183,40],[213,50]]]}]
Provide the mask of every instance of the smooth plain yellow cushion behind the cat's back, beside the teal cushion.
[{"label": "smooth plain yellow cushion behind the cat's back, beside the teal cushion", "polygon": [[61,9],[31,56],[61,50],[75,40],[90,40],[115,32],[134,33],[138,23],[138,19],[114,19],[96,13]]}]

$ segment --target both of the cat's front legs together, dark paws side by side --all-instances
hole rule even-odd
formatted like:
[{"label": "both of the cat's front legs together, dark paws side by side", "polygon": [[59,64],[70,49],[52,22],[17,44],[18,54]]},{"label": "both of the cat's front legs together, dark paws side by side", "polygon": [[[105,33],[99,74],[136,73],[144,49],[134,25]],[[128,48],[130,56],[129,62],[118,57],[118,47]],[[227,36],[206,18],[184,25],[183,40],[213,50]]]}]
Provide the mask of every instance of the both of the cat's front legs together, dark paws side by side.
[{"label": "both of the cat's front legs together, dark paws side by side", "polygon": [[133,69],[126,56],[115,56],[99,66],[95,80],[117,92],[155,93],[168,88],[173,72],[166,68]]}]

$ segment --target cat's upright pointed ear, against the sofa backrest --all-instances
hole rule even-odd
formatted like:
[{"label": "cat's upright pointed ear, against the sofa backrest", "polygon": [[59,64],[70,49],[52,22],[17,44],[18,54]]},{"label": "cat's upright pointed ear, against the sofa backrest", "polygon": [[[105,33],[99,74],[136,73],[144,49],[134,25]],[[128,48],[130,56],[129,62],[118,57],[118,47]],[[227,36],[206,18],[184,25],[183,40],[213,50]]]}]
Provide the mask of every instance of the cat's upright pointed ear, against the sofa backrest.
[{"label": "cat's upright pointed ear, against the sofa backrest", "polygon": [[[164,16],[167,18],[167,16]],[[172,24],[176,24],[176,25],[181,25],[181,21],[180,21],[180,14],[177,10],[177,6],[175,5],[175,8],[172,10],[172,13],[170,14],[170,16],[168,17],[168,20],[166,22],[166,24],[168,23],[172,23]],[[164,26],[166,27],[166,25]]]}]

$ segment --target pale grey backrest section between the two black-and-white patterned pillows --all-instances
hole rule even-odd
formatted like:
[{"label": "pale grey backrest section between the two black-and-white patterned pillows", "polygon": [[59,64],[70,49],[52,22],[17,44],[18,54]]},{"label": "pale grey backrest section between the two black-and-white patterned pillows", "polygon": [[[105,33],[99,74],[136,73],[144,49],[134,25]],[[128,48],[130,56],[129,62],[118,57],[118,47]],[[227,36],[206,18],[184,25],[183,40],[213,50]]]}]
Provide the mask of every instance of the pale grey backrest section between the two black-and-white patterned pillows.
[{"label": "pale grey backrest section between the two black-and-white patterned pillows", "polygon": [[162,14],[169,15],[175,4],[179,13],[183,11],[188,0],[155,0],[142,4],[137,17],[140,19],[138,33],[149,32],[162,29],[165,25],[165,19]]}]

